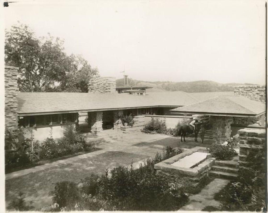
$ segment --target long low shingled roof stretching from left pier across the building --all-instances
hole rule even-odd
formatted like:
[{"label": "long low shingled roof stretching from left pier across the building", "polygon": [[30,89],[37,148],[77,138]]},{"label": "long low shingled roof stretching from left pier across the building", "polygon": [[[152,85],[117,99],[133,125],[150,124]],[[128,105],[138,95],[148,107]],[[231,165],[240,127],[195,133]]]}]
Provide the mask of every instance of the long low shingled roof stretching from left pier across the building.
[{"label": "long low shingled roof stretching from left pier across the building", "polygon": [[[205,97],[217,93],[200,93]],[[198,102],[187,92],[154,92],[145,96],[111,93],[19,92],[18,114],[99,111],[146,107],[179,107]]]}]

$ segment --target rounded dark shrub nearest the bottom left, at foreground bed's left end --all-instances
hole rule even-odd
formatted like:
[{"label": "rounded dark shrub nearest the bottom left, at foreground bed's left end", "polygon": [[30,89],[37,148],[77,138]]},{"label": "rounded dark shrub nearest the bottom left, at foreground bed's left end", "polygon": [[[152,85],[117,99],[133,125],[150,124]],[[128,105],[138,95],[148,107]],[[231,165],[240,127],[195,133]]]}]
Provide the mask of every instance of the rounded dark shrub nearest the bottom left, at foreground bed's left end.
[{"label": "rounded dark shrub nearest the bottom left, at foreground bed's left end", "polygon": [[75,205],[80,198],[80,191],[74,182],[57,182],[54,191],[51,192],[53,203],[57,203],[59,208],[68,205]]}]

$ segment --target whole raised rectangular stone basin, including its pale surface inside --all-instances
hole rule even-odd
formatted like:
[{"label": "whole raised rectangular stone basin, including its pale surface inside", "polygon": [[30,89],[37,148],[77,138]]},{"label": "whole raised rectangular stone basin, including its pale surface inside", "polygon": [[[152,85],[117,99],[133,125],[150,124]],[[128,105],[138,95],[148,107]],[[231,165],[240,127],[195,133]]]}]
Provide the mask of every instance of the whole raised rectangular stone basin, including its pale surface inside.
[{"label": "whole raised rectangular stone basin, including its pale surface inside", "polygon": [[155,164],[154,169],[157,170],[157,173],[185,177],[200,182],[202,178],[208,176],[214,161],[215,158],[210,158],[205,147],[194,147]]}]

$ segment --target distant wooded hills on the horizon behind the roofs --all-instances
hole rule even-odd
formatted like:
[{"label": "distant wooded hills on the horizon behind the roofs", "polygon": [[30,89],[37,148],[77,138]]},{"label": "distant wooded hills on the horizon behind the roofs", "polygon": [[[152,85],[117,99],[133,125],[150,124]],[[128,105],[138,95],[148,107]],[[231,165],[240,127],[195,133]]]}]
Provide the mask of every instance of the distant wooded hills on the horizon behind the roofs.
[{"label": "distant wooded hills on the horizon behind the roofs", "polygon": [[[147,89],[148,92],[166,92],[166,91],[184,91],[184,92],[227,92],[233,91],[233,86],[236,85],[255,85],[255,84],[240,84],[227,83],[221,84],[215,81],[189,81],[189,82],[171,82],[171,81],[140,81],[129,79],[133,86],[153,87]],[[124,79],[117,79],[116,86],[123,86]]]}]

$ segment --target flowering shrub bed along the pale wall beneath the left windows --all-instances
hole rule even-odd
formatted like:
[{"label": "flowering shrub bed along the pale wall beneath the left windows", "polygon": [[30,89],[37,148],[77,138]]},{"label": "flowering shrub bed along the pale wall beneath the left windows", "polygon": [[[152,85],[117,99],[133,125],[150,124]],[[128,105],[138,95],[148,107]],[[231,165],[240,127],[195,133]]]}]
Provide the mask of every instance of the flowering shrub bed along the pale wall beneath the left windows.
[{"label": "flowering shrub bed along the pale wall beneath the left windows", "polygon": [[19,128],[10,132],[5,138],[5,169],[21,167],[40,160],[56,158],[80,151],[90,151],[92,145],[87,143],[86,136],[79,134],[73,125],[66,125],[63,137],[55,141],[50,132],[42,144],[24,137],[27,129]]}]

